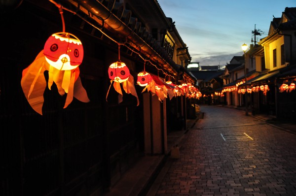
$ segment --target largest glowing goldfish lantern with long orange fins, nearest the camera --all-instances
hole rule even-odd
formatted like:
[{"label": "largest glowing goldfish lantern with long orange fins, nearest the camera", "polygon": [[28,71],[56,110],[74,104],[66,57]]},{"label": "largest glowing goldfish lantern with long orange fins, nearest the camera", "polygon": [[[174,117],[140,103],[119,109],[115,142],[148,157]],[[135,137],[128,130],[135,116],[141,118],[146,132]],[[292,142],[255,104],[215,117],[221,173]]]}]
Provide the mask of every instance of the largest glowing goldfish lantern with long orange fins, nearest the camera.
[{"label": "largest glowing goldfish lantern with long orange fins, nearest the camera", "polygon": [[79,78],[79,65],[83,59],[81,41],[71,33],[53,33],[34,62],[23,70],[21,86],[32,108],[42,115],[43,92],[46,88],[44,71],[48,71],[48,89],[56,84],[61,96],[67,93],[64,108],[73,97],[89,102]]}]

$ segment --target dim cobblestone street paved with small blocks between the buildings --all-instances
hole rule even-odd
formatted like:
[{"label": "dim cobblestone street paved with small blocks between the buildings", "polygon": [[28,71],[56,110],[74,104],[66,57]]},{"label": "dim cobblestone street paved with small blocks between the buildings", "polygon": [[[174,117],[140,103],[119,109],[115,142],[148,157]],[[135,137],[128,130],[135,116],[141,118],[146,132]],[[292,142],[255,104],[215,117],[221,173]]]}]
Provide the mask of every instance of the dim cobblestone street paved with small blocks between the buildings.
[{"label": "dim cobblestone street paved with small blocks between the buildings", "polygon": [[200,110],[204,118],[185,134],[180,159],[168,158],[149,196],[296,195],[296,134],[243,110]]}]

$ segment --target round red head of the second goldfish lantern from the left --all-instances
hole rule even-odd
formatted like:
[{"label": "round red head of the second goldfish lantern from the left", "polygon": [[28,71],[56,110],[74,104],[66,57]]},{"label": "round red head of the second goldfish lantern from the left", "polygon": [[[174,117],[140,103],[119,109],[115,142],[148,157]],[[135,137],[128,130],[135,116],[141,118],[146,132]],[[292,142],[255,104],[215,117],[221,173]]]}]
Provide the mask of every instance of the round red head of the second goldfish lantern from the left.
[{"label": "round red head of the second goldfish lantern from the left", "polygon": [[124,82],[130,76],[130,71],[128,67],[121,61],[112,63],[108,69],[109,78],[114,82]]}]

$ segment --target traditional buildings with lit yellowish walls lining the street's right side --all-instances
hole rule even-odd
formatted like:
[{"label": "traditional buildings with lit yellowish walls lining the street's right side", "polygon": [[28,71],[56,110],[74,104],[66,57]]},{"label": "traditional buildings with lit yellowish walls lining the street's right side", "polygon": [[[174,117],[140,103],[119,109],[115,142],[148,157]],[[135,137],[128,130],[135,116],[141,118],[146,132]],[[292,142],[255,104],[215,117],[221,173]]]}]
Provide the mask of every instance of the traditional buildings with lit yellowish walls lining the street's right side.
[{"label": "traditional buildings with lit yellowish walls lining the street's right side", "polygon": [[222,78],[228,105],[277,118],[295,116],[295,19],[296,8],[286,7],[281,18],[271,21],[268,35],[250,46],[236,69],[226,65]]}]

